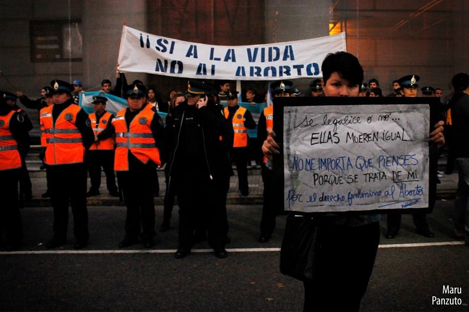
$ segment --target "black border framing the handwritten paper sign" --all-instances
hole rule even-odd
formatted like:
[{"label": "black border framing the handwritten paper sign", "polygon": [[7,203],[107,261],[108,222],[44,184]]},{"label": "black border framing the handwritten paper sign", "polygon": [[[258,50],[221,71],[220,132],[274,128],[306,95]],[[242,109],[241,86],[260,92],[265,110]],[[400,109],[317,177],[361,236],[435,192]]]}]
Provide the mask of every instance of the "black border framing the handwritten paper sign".
[{"label": "black border framing the handwritten paper sign", "polygon": [[[440,111],[440,99],[439,98],[366,98],[366,97],[277,97],[273,98],[274,105],[274,132],[276,134],[275,140],[279,144],[280,154],[274,155],[273,158],[273,170],[274,170],[274,185],[276,185],[276,201],[283,206],[285,200],[283,198],[284,190],[284,176],[283,176],[283,121],[276,122],[275,120],[283,120],[284,107],[288,106],[319,106],[319,105],[387,105],[387,104],[428,104],[430,107],[430,127],[432,128],[442,118],[439,118]],[[428,129],[430,130],[430,129]],[[429,134],[430,132],[428,132]],[[430,181],[428,183],[428,190],[431,193],[435,193],[433,199],[431,195],[428,197],[428,202],[430,207],[428,208],[407,208],[407,209],[386,209],[386,210],[366,210],[366,211],[347,211],[347,212],[334,212],[334,214],[347,213],[347,214],[414,214],[414,213],[430,213],[433,210],[434,198],[436,196],[436,171],[437,171],[437,162],[438,162],[438,153],[430,151],[430,149],[436,150],[436,147],[433,144],[433,147],[429,147],[429,177]],[[431,156],[436,154],[435,156]],[[432,161],[433,164],[432,165]],[[432,177],[433,175],[433,177]],[[432,185],[430,182],[434,180],[434,190],[432,190]],[[280,192],[281,187],[281,192]],[[278,194],[280,193],[280,194]],[[289,214],[293,211],[285,210],[286,214]]]}]

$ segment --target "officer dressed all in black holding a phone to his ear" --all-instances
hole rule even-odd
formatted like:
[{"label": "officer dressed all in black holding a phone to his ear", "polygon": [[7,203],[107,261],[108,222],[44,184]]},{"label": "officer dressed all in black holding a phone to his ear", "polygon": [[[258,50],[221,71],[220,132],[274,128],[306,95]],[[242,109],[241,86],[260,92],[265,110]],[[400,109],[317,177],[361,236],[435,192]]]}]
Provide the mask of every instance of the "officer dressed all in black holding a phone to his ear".
[{"label": "officer dressed all in black holding a phone to his ear", "polygon": [[220,137],[229,136],[229,128],[220,108],[213,103],[211,89],[204,82],[190,81],[188,99],[167,118],[166,139],[171,155],[168,187],[175,189],[179,205],[176,258],[191,253],[200,220],[206,220],[208,243],[215,255],[228,255],[226,210],[220,206],[223,196],[217,192],[220,193],[220,184],[226,185],[223,168],[227,155]]}]

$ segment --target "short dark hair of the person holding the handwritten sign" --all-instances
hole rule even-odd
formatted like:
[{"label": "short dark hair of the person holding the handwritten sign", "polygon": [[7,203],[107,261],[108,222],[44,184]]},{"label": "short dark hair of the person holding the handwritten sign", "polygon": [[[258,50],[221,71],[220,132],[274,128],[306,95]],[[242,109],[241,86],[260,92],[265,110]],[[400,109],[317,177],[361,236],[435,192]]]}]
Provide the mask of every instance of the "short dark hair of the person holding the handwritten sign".
[{"label": "short dark hair of the person holding the handwritten sign", "polygon": [[358,59],[344,51],[329,53],[322,61],[322,79],[324,83],[337,72],[339,77],[348,80],[353,85],[361,85],[363,82],[363,68]]}]

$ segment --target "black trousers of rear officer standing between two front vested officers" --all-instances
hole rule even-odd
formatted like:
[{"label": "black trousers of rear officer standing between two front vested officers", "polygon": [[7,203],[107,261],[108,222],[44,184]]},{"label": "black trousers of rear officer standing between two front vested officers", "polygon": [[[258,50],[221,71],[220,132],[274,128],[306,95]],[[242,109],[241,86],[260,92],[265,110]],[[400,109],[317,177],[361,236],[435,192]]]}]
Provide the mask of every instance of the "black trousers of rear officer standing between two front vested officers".
[{"label": "black trousers of rear officer standing between two front vested officers", "polygon": [[99,191],[101,186],[101,167],[106,175],[107,191],[117,193],[116,178],[114,176],[114,151],[92,150],[86,151],[86,165],[88,166],[90,190]]}]

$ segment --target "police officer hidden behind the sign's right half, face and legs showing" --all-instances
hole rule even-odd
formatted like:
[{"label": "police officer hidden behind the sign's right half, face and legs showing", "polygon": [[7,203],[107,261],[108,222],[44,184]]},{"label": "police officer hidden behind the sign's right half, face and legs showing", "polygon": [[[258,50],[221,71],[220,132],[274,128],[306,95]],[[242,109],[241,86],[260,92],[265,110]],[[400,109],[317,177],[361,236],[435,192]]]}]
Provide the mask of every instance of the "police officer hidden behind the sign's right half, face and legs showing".
[{"label": "police officer hidden behind the sign's right half, face and legs showing", "polygon": [[[397,80],[397,82],[402,88],[402,93],[404,97],[410,97],[410,98],[417,97],[418,92],[419,92],[419,89],[418,89],[419,80],[420,80],[420,77],[417,75],[407,75]],[[433,90],[432,90],[432,93],[433,93]],[[434,145],[430,145],[430,153],[433,154],[431,158],[434,161],[435,160],[438,161],[437,160],[438,151],[435,150],[434,152],[432,152],[434,148],[436,149]],[[432,168],[435,165],[433,164],[433,162],[430,162],[430,173],[432,172]],[[430,209],[433,209],[433,205],[435,204],[435,194],[436,194],[436,175],[433,176],[432,174],[430,174],[429,187],[430,187],[429,206],[430,206]],[[435,235],[428,229],[428,224],[426,223],[426,213],[415,213],[415,214],[412,214],[412,217],[414,220],[415,227],[417,228],[418,234],[421,234],[429,238],[435,237]],[[401,218],[402,218],[402,215],[397,214],[397,213],[387,215],[387,232],[384,235],[386,238],[392,239],[399,233],[399,230],[401,228]]]}]

